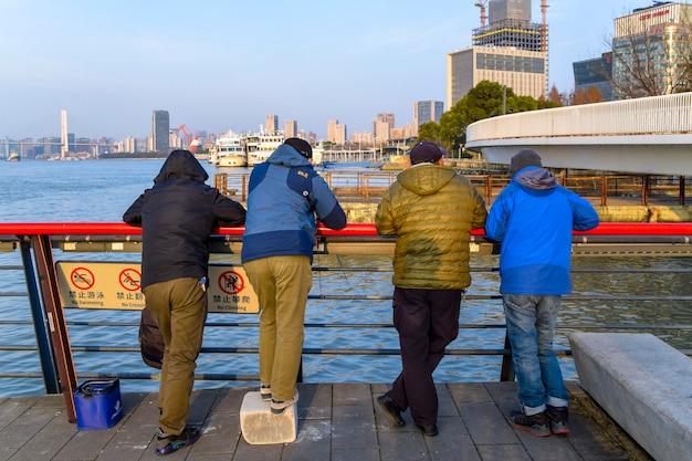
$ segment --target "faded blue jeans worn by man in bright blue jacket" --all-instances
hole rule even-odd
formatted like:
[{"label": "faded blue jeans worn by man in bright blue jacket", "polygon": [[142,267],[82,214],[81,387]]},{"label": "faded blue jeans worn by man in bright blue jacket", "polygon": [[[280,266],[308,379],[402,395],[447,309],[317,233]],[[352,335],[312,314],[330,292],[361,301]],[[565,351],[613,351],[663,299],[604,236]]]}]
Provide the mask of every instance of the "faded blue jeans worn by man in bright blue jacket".
[{"label": "faded blue jeans worn by man in bright blue jacket", "polygon": [[566,407],[568,402],[563,373],[553,350],[560,300],[560,296],[502,295],[518,399],[528,416],[545,411],[546,404]]}]

